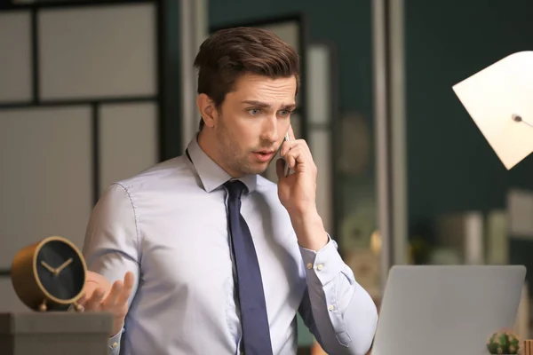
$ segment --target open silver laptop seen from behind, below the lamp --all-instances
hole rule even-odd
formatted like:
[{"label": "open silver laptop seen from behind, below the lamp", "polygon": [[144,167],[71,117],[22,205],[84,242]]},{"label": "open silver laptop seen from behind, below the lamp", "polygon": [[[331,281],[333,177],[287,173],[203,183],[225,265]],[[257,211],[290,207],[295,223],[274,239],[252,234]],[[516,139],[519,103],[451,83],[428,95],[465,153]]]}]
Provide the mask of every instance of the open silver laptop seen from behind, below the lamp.
[{"label": "open silver laptop seen from behind, below the lamp", "polygon": [[486,355],[489,336],[513,328],[522,265],[394,265],[372,355]]}]

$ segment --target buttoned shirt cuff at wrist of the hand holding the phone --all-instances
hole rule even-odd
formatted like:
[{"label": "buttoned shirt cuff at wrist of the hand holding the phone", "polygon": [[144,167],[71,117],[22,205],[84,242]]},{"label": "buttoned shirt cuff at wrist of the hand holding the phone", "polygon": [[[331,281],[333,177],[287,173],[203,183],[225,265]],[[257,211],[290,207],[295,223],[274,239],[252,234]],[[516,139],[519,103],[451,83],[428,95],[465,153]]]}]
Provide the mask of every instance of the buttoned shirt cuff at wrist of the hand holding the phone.
[{"label": "buttoned shirt cuff at wrist of the hand holding the phone", "polygon": [[344,269],[345,263],[338,254],[337,243],[331,239],[329,234],[328,243],[318,251],[299,248],[306,264],[307,275],[313,272],[322,286],[333,280]]}]

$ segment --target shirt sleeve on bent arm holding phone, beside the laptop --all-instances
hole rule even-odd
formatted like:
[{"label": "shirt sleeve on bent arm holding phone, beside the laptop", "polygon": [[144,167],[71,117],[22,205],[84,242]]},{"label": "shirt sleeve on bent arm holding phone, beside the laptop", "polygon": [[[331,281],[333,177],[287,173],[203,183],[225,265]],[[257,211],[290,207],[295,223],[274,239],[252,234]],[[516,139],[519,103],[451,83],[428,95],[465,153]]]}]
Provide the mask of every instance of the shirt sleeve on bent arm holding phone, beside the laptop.
[{"label": "shirt sleeve on bent arm holding phone, beside the laptop", "polygon": [[378,323],[378,310],[330,239],[319,251],[300,247],[306,264],[306,293],[299,313],[309,330],[331,354],[364,355]]}]

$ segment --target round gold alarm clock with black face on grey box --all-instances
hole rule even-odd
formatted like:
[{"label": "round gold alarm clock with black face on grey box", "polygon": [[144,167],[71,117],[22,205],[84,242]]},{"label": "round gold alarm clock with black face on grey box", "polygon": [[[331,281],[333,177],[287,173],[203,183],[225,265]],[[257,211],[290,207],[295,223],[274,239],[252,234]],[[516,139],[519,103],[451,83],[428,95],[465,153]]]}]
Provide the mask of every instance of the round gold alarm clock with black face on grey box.
[{"label": "round gold alarm clock with black face on grey box", "polygon": [[11,279],[20,301],[39,312],[80,311],[87,265],[71,241],[59,236],[44,238],[22,248],[12,261]]}]

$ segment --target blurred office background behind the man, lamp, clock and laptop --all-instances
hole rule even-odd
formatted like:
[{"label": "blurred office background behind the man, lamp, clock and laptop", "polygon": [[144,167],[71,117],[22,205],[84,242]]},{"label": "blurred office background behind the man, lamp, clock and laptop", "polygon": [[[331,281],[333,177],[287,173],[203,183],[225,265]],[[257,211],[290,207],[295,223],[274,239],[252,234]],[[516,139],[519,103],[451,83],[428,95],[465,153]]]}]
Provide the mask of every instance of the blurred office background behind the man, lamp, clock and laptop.
[{"label": "blurred office background behind the man, lamp, clock and laptop", "polygon": [[[0,0],[0,311],[24,310],[19,248],[81,247],[108,184],[183,152],[200,119],[196,51],[235,26],[301,56],[292,124],[324,223],[376,304],[393,264],[529,267],[533,157],[505,170],[451,87],[533,50],[531,13],[527,0]],[[303,326],[298,343],[322,353]]]}]

